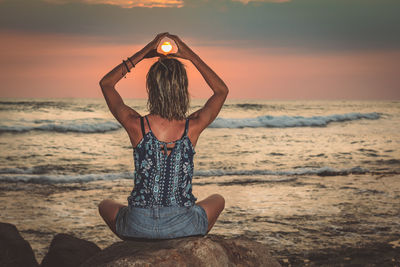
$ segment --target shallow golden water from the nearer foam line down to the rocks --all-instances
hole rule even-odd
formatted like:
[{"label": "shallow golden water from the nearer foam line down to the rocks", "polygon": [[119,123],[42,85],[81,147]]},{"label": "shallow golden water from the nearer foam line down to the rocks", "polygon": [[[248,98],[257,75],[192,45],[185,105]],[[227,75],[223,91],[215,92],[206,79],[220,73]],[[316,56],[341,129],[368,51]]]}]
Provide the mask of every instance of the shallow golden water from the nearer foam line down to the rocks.
[{"label": "shallow golden water from the nearer foam line down to the rocks", "polygon": [[[105,198],[126,203],[131,187],[131,180],[2,182],[0,221],[16,225],[39,262],[57,233],[104,248],[119,239],[102,221],[97,204]],[[399,175],[290,177],[274,182],[254,177],[246,183],[235,177],[195,180],[199,200],[211,193],[226,198],[212,233],[245,234],[266,243],[284,265],[329,265],[360,257],[372,264],[400,264]]]}]

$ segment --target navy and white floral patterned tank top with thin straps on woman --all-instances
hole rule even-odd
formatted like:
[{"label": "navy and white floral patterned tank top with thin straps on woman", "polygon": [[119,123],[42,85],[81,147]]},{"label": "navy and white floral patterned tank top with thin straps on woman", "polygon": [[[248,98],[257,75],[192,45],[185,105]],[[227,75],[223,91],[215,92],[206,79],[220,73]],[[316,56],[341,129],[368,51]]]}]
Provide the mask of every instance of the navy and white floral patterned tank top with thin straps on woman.
[{"label": "navy and white floral patterned tank top with thin straps on woman", "polygon": [[[142,208],[193,206],[193,156],[196,153],[187,136],[189,119],[181,139],[162,142],[157,139],[145,116],[149,132],[145,133],[140,118],[143,138],[134,148],[134,188],[128,197],[129,205]],[[167,144],[175,144],[167,147]],[[168,150],[171,152],[168,155]]]}]

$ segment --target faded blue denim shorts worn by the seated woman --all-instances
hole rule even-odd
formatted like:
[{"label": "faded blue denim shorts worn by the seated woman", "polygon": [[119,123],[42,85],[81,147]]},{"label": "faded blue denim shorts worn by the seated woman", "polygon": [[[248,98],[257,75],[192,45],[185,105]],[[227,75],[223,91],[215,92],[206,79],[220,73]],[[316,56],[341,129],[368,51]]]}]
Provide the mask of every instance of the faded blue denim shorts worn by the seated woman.
[{"label": "faded blue denim shorts worn by the seated woman", "polygon": [[206,235],[208,220],[204,208],[196,204],[152,208],[128,205],[119,209],[115,228],[122,239],[170,239]]}]

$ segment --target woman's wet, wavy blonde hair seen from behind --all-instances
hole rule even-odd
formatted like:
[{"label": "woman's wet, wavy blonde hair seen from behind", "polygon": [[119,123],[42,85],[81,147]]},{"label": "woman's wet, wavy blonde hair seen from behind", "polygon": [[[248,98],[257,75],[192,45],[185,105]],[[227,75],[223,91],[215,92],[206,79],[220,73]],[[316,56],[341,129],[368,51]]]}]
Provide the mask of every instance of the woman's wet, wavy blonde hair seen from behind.
[{"label": "woman's wet, wavy blonde hair seen from behind", "polygon": [[168,120],[186,118],[189,109],[188,78],[185,66],[175,58],[159,58],[146,76],[150,114]]}]

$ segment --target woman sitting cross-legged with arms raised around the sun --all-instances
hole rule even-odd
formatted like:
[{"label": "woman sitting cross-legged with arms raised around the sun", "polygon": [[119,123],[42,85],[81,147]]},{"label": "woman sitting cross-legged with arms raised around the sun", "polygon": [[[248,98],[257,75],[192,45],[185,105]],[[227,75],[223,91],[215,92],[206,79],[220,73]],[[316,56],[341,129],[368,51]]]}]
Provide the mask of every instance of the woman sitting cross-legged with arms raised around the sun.
[{"label": "woman sitting cross-legged with arms raised around the sun", "polygon": [[[178,46],[171,57],[157,53],[164,37]],[[159,60],[147,74],[150,114],[142,117],[124,104],[115,84],[142,59],[152,57]],[[214,91],[204,107],[188,117],[186,71],[176,58],[190,60]],[[103,200],[99,213],[104,221],[122,239],[166,239],[208,233],[224,209],[225,200],[213,194],[195,202],[191,187],[193,155],[201,132],[217,117],[225,102],[225,83],[180,38],[161,33],[105,75],[100,87],[111,113],[129,135],[135,160],[135,186],[128,206]]]}]

